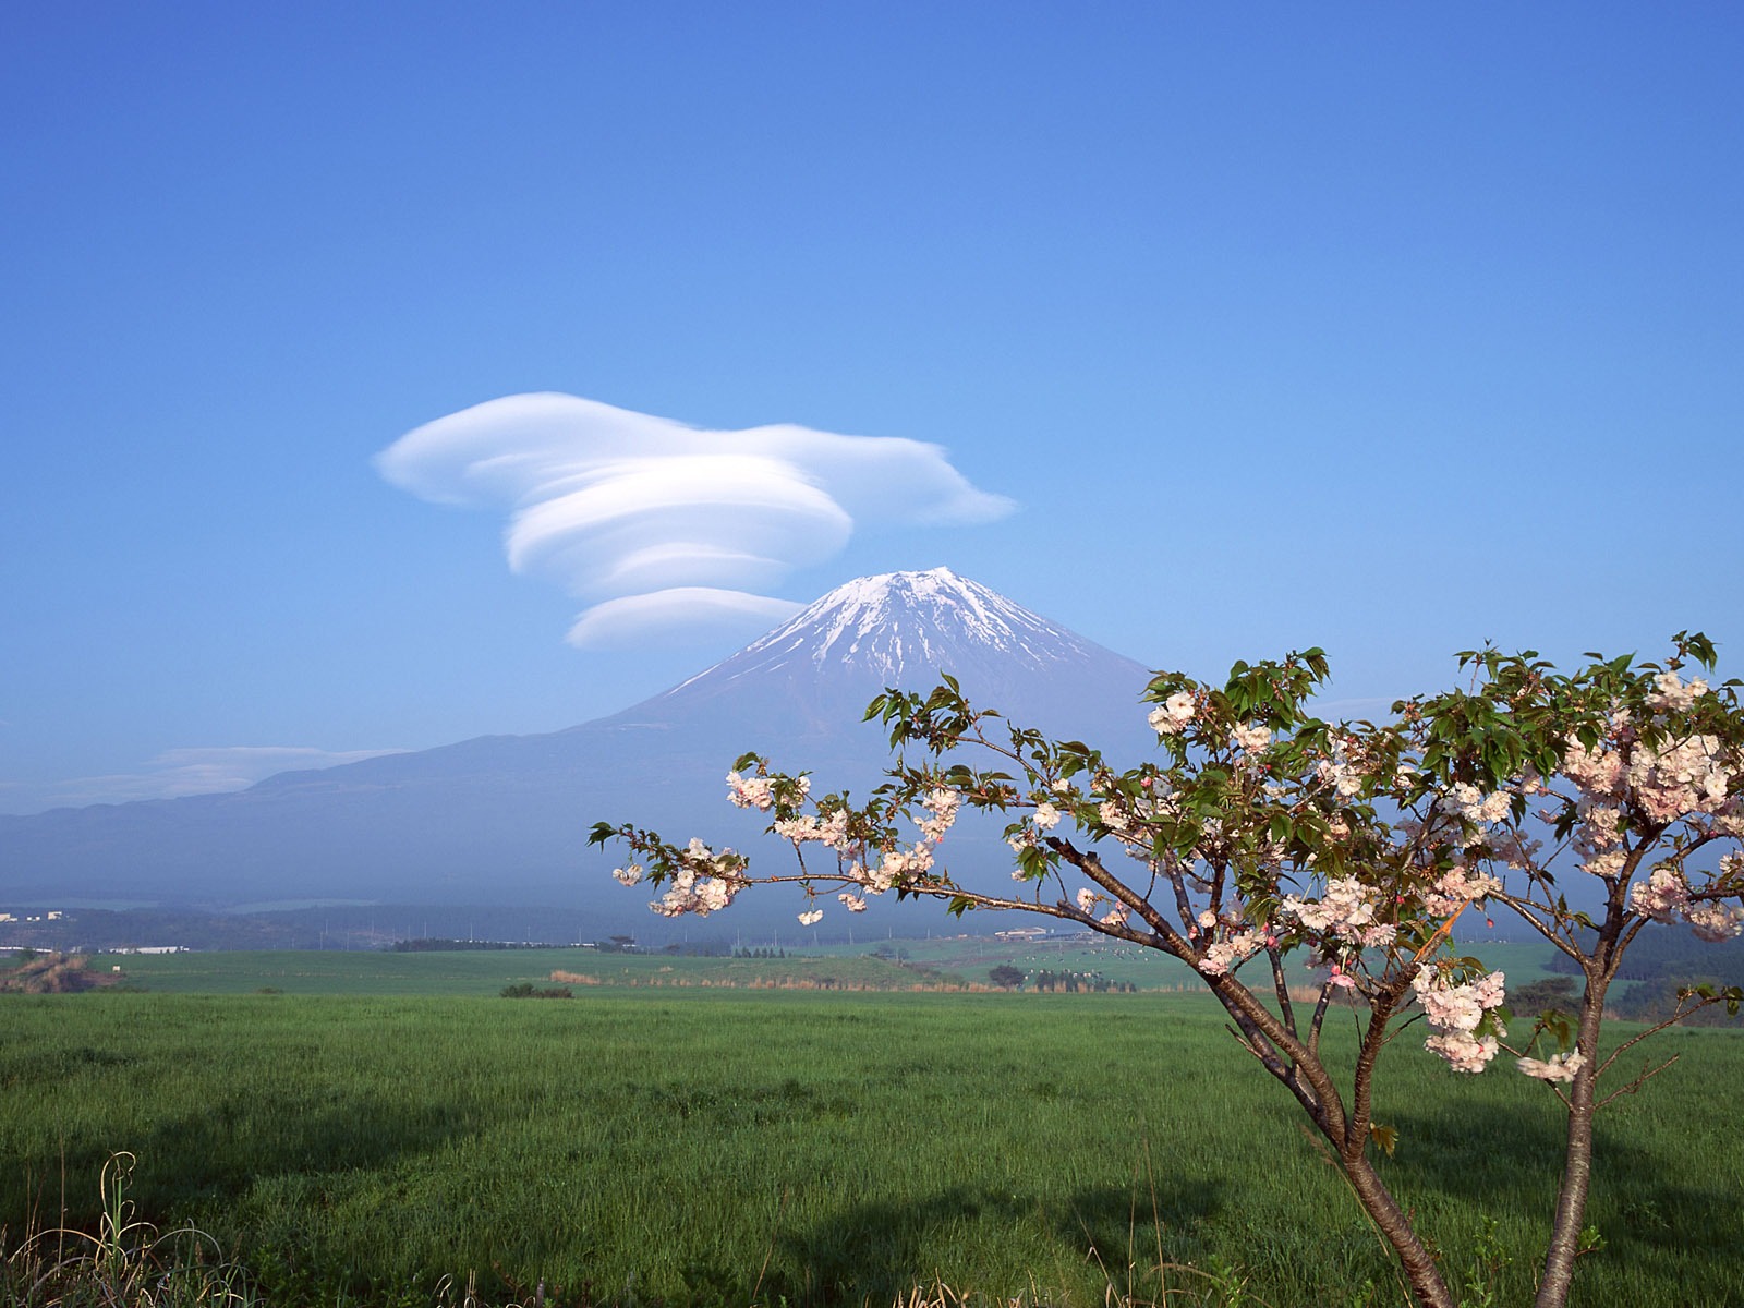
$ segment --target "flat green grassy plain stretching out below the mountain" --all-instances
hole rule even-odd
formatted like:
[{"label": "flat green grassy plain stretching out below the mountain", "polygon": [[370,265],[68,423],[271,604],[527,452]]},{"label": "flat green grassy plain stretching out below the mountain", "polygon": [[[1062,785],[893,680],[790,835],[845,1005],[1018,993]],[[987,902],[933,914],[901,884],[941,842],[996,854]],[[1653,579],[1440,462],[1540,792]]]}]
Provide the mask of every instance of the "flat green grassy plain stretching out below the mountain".
[{"label": "flat green grassy plain stretching out below the mountain", "polygon": [[[1167,959],[450,944],[99,954],[82,970],[108,985],[0,996],[0,1298],[82,1301],[54,1298],[52,1250],[127,1228],[141,1257],[227,1270],[232,1298],[183,1303],[1404,1301],[1294,1106]],[[1556,982],[1545,947],[1477,949]],[[1559,1106],[1402,1045],[1388,1184],[1468,1303],[1524,1301]],[[1744,1036],[1674,1027],[1645,1066],[1671,1057],[1599,1120],[1584,1305],[1744,1303],[1744,1139],[1711,1093],[1744,1078]]]}]

